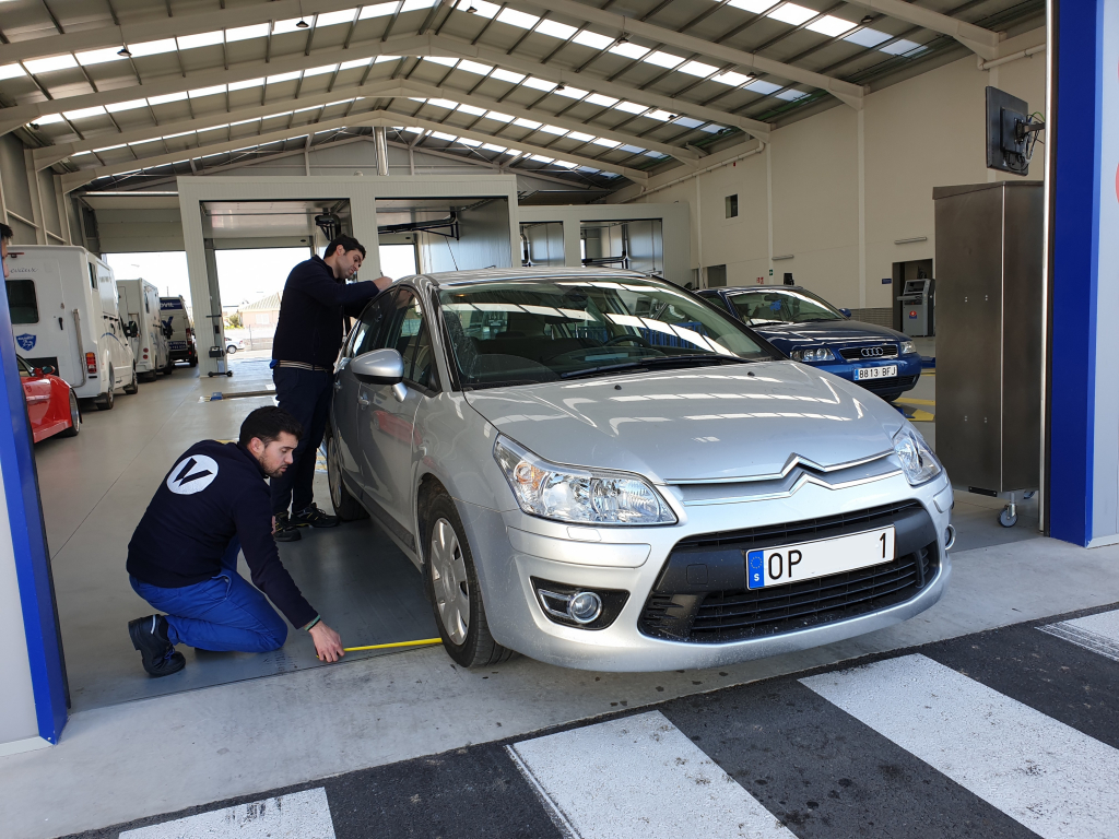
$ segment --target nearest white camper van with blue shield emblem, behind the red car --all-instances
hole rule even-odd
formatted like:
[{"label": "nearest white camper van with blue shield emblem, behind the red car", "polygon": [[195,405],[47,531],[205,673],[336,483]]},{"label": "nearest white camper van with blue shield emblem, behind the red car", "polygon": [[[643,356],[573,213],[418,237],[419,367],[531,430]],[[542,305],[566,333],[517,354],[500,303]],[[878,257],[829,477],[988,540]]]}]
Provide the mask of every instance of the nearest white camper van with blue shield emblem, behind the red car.
[{"label": "nearest white camper van with blue shield emblem, behind the red car", "polygon": [[139,389],[113,270],[84,247],[21,245],[8,252],[8,307],[20,355],[51,366],[78,398],[113,407]]}]

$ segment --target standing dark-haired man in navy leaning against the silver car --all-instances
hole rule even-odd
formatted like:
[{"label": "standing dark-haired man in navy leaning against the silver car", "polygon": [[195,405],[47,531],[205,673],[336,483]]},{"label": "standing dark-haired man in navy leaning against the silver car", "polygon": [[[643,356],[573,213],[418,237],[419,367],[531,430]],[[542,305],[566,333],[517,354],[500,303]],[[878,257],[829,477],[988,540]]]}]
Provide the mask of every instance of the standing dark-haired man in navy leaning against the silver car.
[{"label": "standing dark-haired man in navy leaning against the silver car", "polygon": [[[365,248],[350,236],[338,236],[320,260],[312,256],[291,270],[280,302],[272,341],[272,380],[280,407],[303,426],[294,463],[272,480],[272,513],[278,541],[300,538],[301,527],[335,527],[338,517],[314,505],[314,458],[327,428],[335,360],[346,337],[346,317],[357,318],[373,298],[392,284],[347,283],[357,274]],[[291,508],[289,515],[288,509]]]}]

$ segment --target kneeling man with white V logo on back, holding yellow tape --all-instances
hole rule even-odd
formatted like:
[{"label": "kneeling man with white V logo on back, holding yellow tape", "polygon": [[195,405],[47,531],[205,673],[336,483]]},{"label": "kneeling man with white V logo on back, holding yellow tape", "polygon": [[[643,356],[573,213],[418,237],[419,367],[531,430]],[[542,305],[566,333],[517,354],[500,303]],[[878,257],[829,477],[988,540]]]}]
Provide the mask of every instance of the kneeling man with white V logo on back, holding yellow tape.
[{"label": "kneeling man with white V logo on back, holding yellow tape", "polygon": [[[280,649],[288,625],[269,600],[293,626],[310,632],[320,659],[344,654],[338,633],[300,594],[272,538],[267,479],[289,468],[301,434],[282,408],[257,408],[245,417],[236,443],[195,443],[167,473],[129,543],[133,591],[167,613],[129,622],[149,675],[184,668],[179,643],[214,651]],[[242,549],[253,585],[237,574]]]}]

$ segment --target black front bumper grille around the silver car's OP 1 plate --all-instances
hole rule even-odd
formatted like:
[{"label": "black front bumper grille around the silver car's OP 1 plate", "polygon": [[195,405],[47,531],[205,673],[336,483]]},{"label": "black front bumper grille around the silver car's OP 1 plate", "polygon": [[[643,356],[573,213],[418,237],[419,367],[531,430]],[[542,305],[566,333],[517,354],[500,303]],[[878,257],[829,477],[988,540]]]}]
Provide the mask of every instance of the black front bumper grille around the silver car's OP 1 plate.
[{"label": "black front bumper grille around the silver car's OP 1 plate", "polygon": [[[891,521],[901,524],[903,519],[910,524],[920,520],[921,524],[905,531],[909,534],[904,546],[908,553],[892,563],[759,590],[745,588],[744,576],[733,587],[718,587],[718,581],[726,582],[728,577],[717,569],[713,575],[715,585],[708,591],[692,592],[686,585],[674,588],[671,584],[666,584],[668,564],[676,559],[678,553],[681,564],[722,560],[726,567],[744,563],[742,552],[751,548],[858,532],[886,526]],[[914,538],[921,541],[930,536],[933,539],[921,547],[913,544]],[[901,547],[901,539],[899,545]],[[666,573],[646,602],[638,628],[642,634],[652,638],[726,643],[834,623],[915,596],[935,575],[938,556],[931,519],[916,502],[700,536],[684,540],[674,548]]]}]

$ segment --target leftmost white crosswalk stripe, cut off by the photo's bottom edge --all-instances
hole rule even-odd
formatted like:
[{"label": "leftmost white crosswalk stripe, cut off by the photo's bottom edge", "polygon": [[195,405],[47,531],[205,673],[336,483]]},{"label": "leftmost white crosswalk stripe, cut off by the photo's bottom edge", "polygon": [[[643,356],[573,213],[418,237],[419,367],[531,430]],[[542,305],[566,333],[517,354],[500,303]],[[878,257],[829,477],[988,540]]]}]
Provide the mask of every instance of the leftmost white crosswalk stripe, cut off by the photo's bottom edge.
[{"label": "leftmost white crosswalk stripe, cut off by the photo's bottom edge", "polygon": [[120,839],[335,839],[335,826],[320,786],[126,830]]}]

